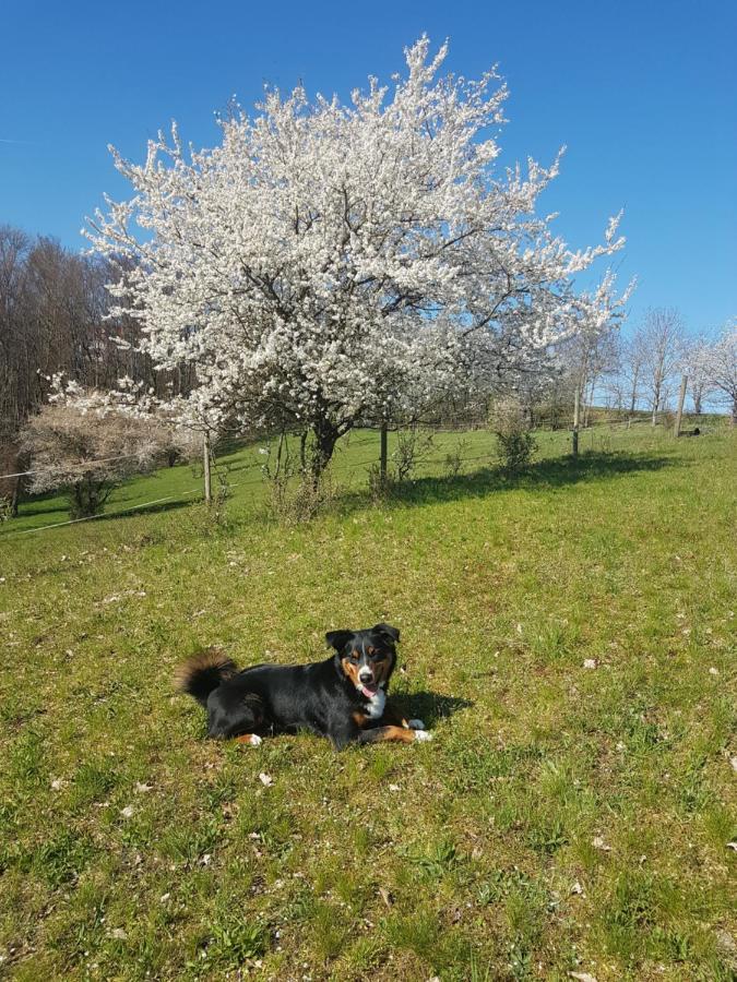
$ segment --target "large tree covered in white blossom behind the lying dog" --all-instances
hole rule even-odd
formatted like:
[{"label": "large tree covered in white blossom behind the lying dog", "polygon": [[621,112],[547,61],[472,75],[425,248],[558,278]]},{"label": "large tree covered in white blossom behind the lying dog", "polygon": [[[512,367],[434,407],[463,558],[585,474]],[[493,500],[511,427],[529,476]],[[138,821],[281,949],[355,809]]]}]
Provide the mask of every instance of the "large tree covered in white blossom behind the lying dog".
[{"label": "large tree covered in white blossom behind the lying dog", "polygon": [[536,215],[558,159],[495,166],[494,71],[443,76],[426,37],[405,55],[347,105],[298,86],[231,107],[213,149],[176,125],[142,165],[112,149],[135,193],[88,230],[127,262],[112,315],[158,368],[195,369],[182,418],[310,431],[316,476],[359,420],[538,359],[580,321],[572,277],[623,242],[614,218],[573,251]]}]

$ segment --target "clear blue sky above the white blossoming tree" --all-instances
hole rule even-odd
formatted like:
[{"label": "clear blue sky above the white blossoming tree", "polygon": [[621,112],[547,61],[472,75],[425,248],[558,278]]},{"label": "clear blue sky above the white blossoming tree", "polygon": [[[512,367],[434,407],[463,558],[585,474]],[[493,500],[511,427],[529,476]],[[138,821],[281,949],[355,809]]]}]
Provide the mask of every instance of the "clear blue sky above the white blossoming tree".
[{"label": "clear blue sky above the white blossoming tree", "polygon": [[264,83],[346,96],[388,80],[402,48],[450,38],[447,65],[477,77],[499,64],[511,96],[502,163],[549,161],[542,200],[572,244],[597,241],[625,208],[622,285],[674,306],[690,331],[737,314],[737,3],[336,2],[2,5],[0,224],[83,248],[103,192],[127,196],[107,153],[141,159],[173,118],[199,146],[231,94],[252,106]]}]

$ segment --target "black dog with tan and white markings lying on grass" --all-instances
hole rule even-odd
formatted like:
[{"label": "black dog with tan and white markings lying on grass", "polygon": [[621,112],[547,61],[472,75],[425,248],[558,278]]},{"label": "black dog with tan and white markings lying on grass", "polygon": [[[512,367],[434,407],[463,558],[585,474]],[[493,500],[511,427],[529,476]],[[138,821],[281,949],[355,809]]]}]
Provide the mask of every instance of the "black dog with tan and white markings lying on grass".
[{"label": "black dog with tan and white markings lying on grass", "polygon": [[389,624],[367,631],[330,631],[335,654],[312,664],[257,664],[238,671],[211,649],[185,662],[179,688],[207,710],[209,736],[258,745],[264,733],[309,730],[337,749],[348,743],[430,740],[421,720],[387,707],[400,632]]}]

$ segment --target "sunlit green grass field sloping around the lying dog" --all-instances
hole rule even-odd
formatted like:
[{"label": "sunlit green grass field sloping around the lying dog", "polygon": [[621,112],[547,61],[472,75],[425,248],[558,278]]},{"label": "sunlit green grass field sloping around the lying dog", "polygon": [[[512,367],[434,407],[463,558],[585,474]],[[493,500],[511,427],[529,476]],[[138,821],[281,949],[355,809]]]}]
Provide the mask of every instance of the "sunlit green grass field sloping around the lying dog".
[{"label": "sunlit green grass field sloping around the lying dog", "polygon": [[[5,523],[0,975],[735,978],[734,434],[543,433],[514,479],[484,432],[443,476],[459,439],[377,506],[354,434],[309,524],[253,448],[221,526],[188,467]],[[431,743],[216,744],[173,691],[201,646],[311,660],[379,620]]]}]

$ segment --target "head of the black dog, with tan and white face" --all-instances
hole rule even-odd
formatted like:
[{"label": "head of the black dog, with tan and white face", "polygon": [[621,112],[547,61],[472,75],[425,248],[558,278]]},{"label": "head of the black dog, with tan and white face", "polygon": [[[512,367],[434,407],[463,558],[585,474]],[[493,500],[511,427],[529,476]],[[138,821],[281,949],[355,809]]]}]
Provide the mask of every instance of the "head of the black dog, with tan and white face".
[{"label": "head of the black dog, with tan and white face", "polygon": [[396,664],[394,648],[400,632],[390,624],[366,631],[329,631],[325,640],[335,648],[335,667],[366,698],[385,690]]}]

